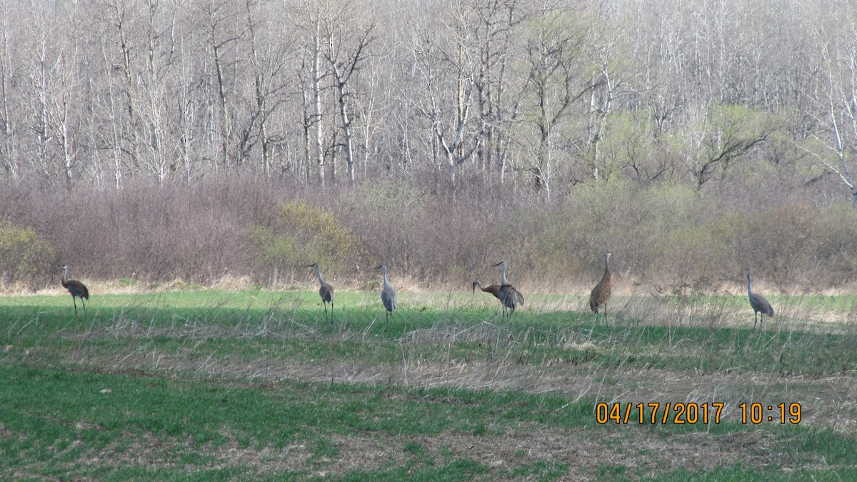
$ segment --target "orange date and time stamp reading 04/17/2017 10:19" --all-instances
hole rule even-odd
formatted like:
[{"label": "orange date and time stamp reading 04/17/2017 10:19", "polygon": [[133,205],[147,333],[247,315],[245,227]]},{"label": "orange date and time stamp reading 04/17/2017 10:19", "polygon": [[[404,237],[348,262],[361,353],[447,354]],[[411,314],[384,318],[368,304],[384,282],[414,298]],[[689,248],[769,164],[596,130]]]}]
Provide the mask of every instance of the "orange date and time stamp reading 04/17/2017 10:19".
[{"label": "orange date and time stamp reading 04/17/2017 10:19", "polygon": [[[719,424],[726,404],[723,402],[611,402],[596,404],[599,424]],[[741,403],[738,405],[742,424],[780,422],[800,424],[800,403]]]}]

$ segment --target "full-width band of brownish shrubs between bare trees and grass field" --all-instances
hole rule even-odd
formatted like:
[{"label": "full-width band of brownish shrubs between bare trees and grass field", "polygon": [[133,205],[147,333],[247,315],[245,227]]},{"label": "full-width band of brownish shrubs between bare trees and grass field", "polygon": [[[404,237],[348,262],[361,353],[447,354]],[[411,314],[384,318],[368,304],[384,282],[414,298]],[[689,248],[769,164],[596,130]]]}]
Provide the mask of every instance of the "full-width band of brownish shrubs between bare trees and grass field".
[{"label": "full-width band of brownish shrubs between bare trees and grass field", "polygon": [[[496,282],[490,265],[506,261],[528,291],[585,292],[605,250],[619,292],[738,289],[746,273],[759,286],[818,291],[857,275],[848,200],[742,189],[740,178],[724,191],[599,180],[549,204],[504,185],[450,196],[401,180],[327,190],[229,177],[63,193],[11,186],[0,190],[0,220],[17,230],[3,241],[7,283],[56,282],[68,263],[87,280],[246,276],[267,286],[310,280],[303,266],[319,262],[339,286],[377,279],[383,263],[400,286],[463,289]],[[21,240],[36,232],[39,242]],[[7,261],[23,259],[14,253],[25,245],[40,254],[23,258],[39,262]]]}]

